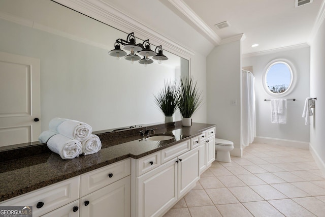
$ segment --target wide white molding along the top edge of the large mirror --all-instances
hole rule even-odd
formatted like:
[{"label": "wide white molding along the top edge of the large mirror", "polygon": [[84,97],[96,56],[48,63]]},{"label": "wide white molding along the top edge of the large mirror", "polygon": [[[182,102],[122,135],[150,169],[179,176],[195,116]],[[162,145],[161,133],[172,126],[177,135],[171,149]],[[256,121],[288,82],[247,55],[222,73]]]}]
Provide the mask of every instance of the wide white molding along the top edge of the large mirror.
[{"label": "wide white molding along the top edge of the large mirror", "polygon": [[[195,54],[191,49],[175,43],[167,36],[161,35],[157,30],[148,27],[145,23],[128,16],[117,8],[102,0],[52,0],[58,4],[99,20],[124,33],[134,32],[137,38],[150,39],[150,43],[163,45],[164,49],[176,55],[189,59]],[[113,42],[112,42],[113,43]]]}]

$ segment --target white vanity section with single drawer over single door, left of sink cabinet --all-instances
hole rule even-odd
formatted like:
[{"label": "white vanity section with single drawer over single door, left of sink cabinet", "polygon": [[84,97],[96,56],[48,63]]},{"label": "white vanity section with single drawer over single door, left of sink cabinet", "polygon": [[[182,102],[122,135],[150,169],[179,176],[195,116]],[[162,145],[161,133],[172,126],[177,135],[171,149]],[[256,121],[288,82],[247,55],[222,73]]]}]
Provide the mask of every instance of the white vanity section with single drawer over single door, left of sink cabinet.
[{"label": "white vanity section with single drawer over single door, left of sink cabinet", "polygon": [[131,215],[131,160],[80,176],[80,217]]}]

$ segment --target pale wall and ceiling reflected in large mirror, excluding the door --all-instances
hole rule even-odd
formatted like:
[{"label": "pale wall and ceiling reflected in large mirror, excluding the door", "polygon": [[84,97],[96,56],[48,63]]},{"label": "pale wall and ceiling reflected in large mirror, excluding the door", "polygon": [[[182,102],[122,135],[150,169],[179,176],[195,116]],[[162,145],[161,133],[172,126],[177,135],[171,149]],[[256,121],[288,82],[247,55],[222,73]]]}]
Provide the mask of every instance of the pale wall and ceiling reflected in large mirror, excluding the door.
[{"label": "pale wall and ceiling reflected in large mirror, excluding the door", "polygon": [[163,122],[154,94],[188,75],[188,60],[164,47],[169,60],[160,65],[116,60],[108,51],[127,33],[50,0],[2,0],[0,26],[1,52],[40,59],[41,131],[54,117],[93,131]]}]

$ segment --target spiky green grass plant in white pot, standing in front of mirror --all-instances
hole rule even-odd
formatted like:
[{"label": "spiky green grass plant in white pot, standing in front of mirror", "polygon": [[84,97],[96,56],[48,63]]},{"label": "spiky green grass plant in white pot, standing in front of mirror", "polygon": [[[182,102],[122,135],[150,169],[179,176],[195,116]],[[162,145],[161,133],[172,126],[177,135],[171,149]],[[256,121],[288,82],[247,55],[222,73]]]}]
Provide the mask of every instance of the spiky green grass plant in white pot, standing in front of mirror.
[{"label": "spiky green grass plant in white pot, standing in front of mirror", "polygon": [[202,98],[202,91],[199,91],[197,82],[193,78],[182,78],[178,94],[177,107],[182,114],[182,125],[190,127],[192,125],[191,116],[199,109]]}]

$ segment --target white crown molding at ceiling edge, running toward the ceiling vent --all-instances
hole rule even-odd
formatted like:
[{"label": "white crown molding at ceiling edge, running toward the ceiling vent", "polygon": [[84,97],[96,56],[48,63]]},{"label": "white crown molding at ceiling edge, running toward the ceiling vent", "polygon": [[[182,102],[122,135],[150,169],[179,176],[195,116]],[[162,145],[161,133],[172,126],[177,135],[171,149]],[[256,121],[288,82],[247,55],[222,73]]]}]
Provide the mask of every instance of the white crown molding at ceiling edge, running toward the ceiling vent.
[{"label": "white crown molding at ceiling edge, running toward the ceiling vent", "polygon": [[192,23],[198,26],[204,34],[212,40],[214,45],[221,43],[221,38],[196,14],[194,13],[183,0],[168,0],[177,10],[185,15]]}]

